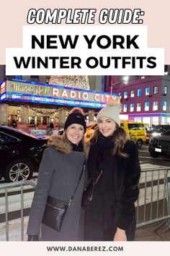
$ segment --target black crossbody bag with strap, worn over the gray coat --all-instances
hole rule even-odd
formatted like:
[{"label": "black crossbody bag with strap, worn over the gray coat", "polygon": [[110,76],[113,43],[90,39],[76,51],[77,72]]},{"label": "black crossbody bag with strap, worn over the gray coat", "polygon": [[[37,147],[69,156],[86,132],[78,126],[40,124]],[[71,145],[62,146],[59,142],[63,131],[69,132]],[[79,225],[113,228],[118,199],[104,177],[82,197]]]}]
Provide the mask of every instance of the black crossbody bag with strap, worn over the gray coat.
[{"label": "black crossbody bag with strap, worn over the gray coat", "polygon": [[[81,171],[81,175],[79,176],[79,181],[76,185],[76,189],[79,186],[81,181],[81,176],[84,171],[84,166]],[[42,223],[46,226],[49,226],[51,229],[55,229],[56,231],[61,231],[61,226],[63,223],[64,216],[66,216],[66,211],[70,207],[71,202],[73,201],[73,197],[76,193],[76,189],[73,192],[73,195],[67,201],[59,200],[58,198],[51,197],[48,195],[48,200],[45,205],[45,212],[42,217]]]}]

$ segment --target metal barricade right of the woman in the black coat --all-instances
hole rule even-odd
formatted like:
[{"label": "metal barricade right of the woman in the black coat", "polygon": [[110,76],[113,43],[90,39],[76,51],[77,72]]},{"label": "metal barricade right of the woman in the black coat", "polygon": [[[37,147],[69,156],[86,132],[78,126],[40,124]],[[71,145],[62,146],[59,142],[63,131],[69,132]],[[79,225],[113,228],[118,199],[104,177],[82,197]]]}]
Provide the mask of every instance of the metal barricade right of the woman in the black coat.
[{"label": "metal barricade right of the woman in the black coat", "polygon": [[170,220],[170,168],[143,169],[136,202],[137,227]]}]

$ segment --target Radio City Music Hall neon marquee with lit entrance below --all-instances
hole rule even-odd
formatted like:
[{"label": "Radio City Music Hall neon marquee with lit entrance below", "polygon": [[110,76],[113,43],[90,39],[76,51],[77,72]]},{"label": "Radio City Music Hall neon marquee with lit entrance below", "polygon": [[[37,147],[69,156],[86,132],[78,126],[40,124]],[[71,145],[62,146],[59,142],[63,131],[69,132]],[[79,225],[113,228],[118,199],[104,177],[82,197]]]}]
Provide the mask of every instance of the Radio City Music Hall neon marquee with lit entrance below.
[{"label": "Radio City Music Hall neon marquee with lit entrance below", "polygon": [[6,80],[0,84],[0,123],[10,126],[15,119],[19,126],[35,124],[42,129],[53,121],[63,127],[70,109],[75,106],[84,109],[86,121],[94,121],[95,112],[111,100],[120,98],[94,90]]}]

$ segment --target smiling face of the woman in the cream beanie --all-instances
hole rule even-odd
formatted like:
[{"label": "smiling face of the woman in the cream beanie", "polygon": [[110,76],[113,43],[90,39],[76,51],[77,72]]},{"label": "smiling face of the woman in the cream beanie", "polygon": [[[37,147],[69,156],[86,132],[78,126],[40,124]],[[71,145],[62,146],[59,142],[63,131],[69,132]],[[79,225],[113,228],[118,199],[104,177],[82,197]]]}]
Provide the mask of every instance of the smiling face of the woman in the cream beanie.
[{"label": "smiling face of the woman in the cream beanie", "polygon": [[102,117],[97,121],[99,132],[102,133],[104,137],[109,137],[115,132],[116,123],[108,117]]}]

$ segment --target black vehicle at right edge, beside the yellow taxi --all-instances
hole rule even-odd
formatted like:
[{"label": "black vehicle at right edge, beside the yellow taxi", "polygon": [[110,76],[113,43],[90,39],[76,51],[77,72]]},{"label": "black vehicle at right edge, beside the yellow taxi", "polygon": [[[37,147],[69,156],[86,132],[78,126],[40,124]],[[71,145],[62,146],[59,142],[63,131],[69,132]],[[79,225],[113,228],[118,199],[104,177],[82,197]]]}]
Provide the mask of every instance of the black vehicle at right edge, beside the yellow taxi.
[{"label": "black vehicle at right edge, beside the yellow taxi", "polygon": [[159,155],[170,156],[170,129],[161,132],[155,137],[151,137],[148,150],[153,158],[157,158]]}]

